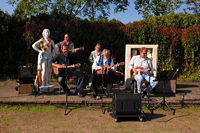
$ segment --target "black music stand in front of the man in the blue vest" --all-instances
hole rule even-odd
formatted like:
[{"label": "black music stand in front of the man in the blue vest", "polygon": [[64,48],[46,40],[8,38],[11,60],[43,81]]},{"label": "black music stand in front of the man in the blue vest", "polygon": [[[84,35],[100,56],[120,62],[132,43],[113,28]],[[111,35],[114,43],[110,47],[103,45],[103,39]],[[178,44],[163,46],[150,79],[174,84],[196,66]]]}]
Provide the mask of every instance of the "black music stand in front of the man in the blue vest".
[{"label": "black music stand in front of the man in the blue vest", "polygon": [[94,74],[94,81],[95,84],[98,86],[101,86],[101,108],[102,113],[105,113],[105,110],[103,109],[103,90],[104,90],[104,84],[114,84],[116,83],[116,75],[114,73],[103,73],[103,74]]}]

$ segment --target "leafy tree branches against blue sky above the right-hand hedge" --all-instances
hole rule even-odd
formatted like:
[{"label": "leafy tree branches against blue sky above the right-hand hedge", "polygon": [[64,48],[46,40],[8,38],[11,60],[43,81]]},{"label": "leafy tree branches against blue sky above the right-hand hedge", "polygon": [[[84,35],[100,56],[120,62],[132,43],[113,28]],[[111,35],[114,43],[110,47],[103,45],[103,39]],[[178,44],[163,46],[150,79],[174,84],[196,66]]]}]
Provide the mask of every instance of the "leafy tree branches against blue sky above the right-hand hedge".
[{"label": "leafy tree branches against blue sky above the right-hand hedge", "polygon": [[135,9],[144,18],[167,15],[180,8],[181,0],[136,0]]}]

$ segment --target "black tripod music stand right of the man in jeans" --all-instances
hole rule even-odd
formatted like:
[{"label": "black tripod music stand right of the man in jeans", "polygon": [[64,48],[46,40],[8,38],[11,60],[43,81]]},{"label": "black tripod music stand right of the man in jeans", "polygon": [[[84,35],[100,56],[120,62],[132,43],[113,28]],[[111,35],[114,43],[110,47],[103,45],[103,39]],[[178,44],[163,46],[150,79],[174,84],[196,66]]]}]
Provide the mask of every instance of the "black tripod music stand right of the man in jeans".
[{"label": "black tripod music stand right of the man in jeans", "polygon": [[[180,70],[169,70],[169,71],[161,71],[160,73],[157,74],[156,76],[156,81],[164,81],[163,83],[163,100],[156,104],[152,110],[154,110],[157,106],[161,105],[163,107],[163,110],[165,109],[165,106],[170,110],[170,112],[172,112],[172,110],[170,109],[170,107],[168,106],[166,100],[165,100],[165,83],[168,80],[174,80],[178,77],[180,73]],[[172,113],[174,115],[174,112]]]}]

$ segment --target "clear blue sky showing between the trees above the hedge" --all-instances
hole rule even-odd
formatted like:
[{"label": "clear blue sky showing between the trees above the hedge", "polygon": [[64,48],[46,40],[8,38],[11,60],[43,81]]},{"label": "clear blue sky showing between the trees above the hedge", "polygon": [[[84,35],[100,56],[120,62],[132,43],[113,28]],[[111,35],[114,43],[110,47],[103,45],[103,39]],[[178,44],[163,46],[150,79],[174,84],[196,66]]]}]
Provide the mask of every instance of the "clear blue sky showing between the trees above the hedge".
[{"label": "clear blue sky showing between the trees above the hedge", "polygon": [[[13,10],[15,9],[15,6],[12,7],[12,5],[6,3],[7,0],[1,0],[0,1],[0,9],[3,10],[4,12],[8,12],[10,15],[13,13]],[[129,22],[133,21],[139,21],[142,20],[143,17],[141,14],[138,14],[138,11],[134,9],[134,1],[129,0],[130,5],[128,6],[128,10],[120,13],[114,13],[111,11],[110,19],[117,19],[121,21],[124,24],[127,24]],[[183,9],[180,8],[179,10],[175,11],[176,13],[178,12],[183,12]]]}]

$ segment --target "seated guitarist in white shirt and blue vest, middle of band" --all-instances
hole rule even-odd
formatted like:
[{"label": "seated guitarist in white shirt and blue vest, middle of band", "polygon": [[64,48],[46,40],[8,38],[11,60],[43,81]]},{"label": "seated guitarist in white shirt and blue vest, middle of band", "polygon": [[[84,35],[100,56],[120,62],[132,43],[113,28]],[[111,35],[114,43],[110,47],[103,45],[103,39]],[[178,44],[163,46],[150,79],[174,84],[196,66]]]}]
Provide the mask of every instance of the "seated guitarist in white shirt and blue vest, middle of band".
[{"label": "seated guitarist in white shirt and blue vest, middle of band", "polygon": [[[112,71],[116,71],[117,67],[119,66],[118,64],[114,65],[114,61],[113,59],[110,57],[110,51],[108,49],[104,49],[102,51],[102,55],[97,56],[94,60],[94,63],[92,65],[92,69],[94,71],[104,71],[106,68],[104,66],[108,66],[109,69],[107,69],[107,72],[112,72]],[[107,86],[107,89],[105,91],[105,95],[107,97],[110,97],[110,92],[112,89],[112,84],[106,84],[106,82],[104,82],[104,86]],[[93,91],[93,97],[96,98],[98,96],[98,92],[97,92],[97,84],[94,81],[94,77],[92,78],[92,91]]]}]

